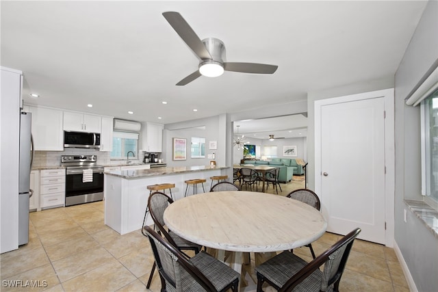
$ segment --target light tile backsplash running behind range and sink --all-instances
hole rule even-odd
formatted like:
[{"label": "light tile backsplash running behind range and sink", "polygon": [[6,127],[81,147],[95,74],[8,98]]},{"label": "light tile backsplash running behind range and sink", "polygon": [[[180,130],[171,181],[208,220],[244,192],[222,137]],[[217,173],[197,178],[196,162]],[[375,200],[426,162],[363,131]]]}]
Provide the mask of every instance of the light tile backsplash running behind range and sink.
[{"label": "light tile backsplash running behind range and sink", "polygon": [[[35,151],[32,168],[60,166],[61,155],[96,155],[97,164],[99,165],[117,165],[125,162],[125,160],[111,160],[111,152],[101,152],[99,150],[83,148],[64,148],[64,151]],[[138,157],[142,157],[140,156],[140,153]],[[129,161],[132,161],[133,163],[141,163],[142,159],[129,159]]]}]

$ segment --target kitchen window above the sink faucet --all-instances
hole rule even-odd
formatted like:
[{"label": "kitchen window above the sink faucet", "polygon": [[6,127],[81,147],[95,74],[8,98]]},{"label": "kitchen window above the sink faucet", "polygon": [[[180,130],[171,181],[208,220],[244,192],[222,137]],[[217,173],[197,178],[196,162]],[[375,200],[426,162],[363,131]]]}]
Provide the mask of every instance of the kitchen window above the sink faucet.
[{"label": "kitchen window above the sink faucet", "polygon": [[113,132],[111,159],[127,159],[129,151],[129,157],[137,159],[138,133]]}]

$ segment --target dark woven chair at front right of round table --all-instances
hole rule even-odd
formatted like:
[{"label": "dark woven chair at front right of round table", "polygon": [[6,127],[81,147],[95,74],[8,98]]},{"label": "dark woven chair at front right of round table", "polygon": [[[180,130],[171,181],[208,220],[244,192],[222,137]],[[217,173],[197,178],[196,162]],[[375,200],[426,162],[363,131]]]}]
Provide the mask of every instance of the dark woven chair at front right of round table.
[{"label": "dark woven chair at front right of round table", "polygon": [[[289,291],[339,291],[353,241],[361,232],[352,230],[310,263],[291,252],[282,252],[255,268],[257,292],[264,282],[281,292]],[[324,265],[320,271],[319,267]]]}]

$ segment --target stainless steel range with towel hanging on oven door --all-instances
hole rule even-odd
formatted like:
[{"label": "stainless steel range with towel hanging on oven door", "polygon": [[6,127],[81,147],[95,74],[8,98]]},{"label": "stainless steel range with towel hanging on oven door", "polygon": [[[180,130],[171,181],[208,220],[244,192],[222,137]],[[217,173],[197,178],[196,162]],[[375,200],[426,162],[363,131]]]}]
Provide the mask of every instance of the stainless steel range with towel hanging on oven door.
[{"label": "stainless steel range with towel hanging on oven door", "polygon": [[103,200],[103,166],[96,155],[62,155],[66,167],[66,207]]}]

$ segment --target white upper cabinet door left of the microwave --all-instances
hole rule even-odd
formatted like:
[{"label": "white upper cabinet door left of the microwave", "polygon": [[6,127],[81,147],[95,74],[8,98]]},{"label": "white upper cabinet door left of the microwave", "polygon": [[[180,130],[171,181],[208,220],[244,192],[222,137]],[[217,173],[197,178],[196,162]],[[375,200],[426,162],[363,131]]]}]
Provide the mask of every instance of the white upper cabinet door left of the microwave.
[{"label": "white upper cabinet door left of the microwave", "polygon": [[34,149],[45,151],[64,150],[62,111],[45,107],[31,107]]}]

